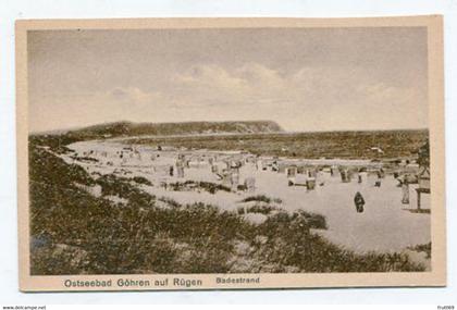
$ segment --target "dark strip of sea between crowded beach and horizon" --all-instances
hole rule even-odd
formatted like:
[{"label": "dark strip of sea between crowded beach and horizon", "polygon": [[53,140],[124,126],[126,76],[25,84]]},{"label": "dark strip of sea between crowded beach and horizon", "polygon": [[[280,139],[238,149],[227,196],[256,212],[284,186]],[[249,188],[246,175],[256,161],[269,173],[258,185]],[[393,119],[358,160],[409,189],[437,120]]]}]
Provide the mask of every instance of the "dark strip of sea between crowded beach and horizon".
[{"label": "dark strip of sea between crowded beach and horizon", "polygon": [[[166,145],[188,149],[246,150],[262,156],[298,158],[410,157],[427,141],[428,131],[234,134],[230,136],[133,138],[133,144]],[[373,152],[379,147],[384,152]]]}]

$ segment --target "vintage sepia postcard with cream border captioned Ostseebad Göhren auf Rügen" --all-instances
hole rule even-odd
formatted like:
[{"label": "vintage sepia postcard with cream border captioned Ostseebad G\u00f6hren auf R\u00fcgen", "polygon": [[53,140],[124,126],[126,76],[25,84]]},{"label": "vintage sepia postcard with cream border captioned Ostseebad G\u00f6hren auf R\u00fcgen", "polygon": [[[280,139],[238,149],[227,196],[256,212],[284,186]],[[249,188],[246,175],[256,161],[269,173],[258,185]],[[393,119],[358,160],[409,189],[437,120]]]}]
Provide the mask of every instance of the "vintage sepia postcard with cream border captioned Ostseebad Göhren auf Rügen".
[{"label": "vintage sepia postcard with cream border captioned Ostseebad G\u00f6hren auf R\u00fcgen", "polygon": [[446,285],[442,24],[18,21],[21,289]]}]

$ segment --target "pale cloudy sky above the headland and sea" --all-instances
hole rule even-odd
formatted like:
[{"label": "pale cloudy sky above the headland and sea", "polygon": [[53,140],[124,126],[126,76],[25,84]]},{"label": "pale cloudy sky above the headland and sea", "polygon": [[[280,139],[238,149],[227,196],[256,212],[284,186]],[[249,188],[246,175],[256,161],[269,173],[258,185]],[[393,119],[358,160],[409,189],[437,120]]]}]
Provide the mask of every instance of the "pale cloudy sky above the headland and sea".
[{"label": "pale cloudy sky above the headland and sea", "polygon": [[29,131],[271,120],[428,127],[427,28],[34,30]]}]

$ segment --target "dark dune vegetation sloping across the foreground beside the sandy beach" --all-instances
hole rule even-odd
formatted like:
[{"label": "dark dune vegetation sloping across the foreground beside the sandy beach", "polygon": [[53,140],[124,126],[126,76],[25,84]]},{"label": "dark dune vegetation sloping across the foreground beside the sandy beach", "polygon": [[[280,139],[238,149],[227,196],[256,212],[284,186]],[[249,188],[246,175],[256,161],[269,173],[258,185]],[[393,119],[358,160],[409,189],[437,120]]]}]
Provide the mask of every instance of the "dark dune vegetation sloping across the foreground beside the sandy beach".
[{"label": "dark dune vegetation sloping across the foreground beside the sandy beach", "polygon": [[[34,275],[423,270],[406,255],[356,255],[330,244],[312,232],[326,227],[318,214],[275,209],[263,223],[254,224],[235,211],[156,198],[139,188],[145,179],[92,179],[83,168],[52,153],[65,151],[64,139],[30,139]],[[102,196],[82,185],[101,186]],[[111,195],[127,203],[103,198]]]}]

